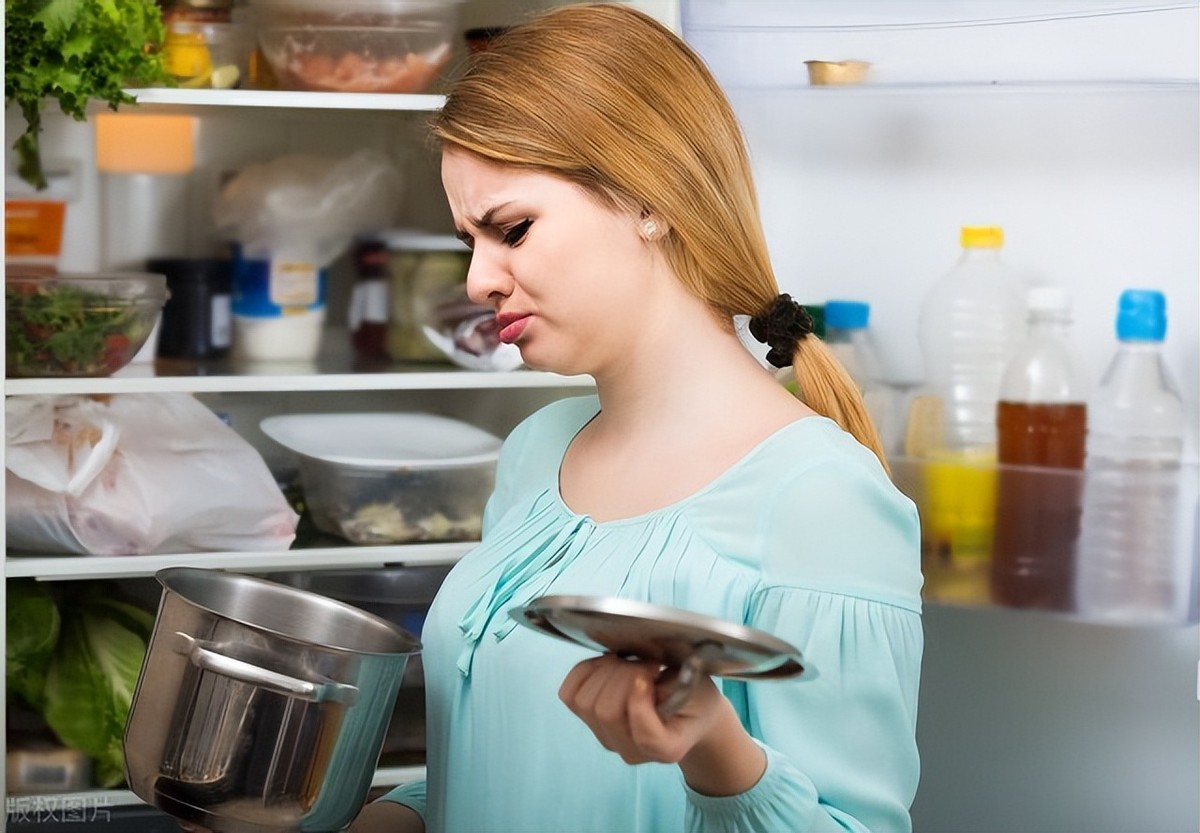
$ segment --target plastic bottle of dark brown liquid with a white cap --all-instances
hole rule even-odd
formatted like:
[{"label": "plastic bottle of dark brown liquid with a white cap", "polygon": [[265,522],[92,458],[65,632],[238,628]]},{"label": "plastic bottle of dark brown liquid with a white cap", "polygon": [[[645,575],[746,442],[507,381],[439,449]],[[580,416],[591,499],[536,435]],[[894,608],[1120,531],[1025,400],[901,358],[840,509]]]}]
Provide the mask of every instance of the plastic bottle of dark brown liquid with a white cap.
[{"label": "plastic bottle of dark brown liquid with a white cap", "polygon": [[996,408],[991,593],[1009,607],[1073,611],[1087,438],[1087,377],[1070,341],[1070,296],[1028,293],[1030,326]]}]

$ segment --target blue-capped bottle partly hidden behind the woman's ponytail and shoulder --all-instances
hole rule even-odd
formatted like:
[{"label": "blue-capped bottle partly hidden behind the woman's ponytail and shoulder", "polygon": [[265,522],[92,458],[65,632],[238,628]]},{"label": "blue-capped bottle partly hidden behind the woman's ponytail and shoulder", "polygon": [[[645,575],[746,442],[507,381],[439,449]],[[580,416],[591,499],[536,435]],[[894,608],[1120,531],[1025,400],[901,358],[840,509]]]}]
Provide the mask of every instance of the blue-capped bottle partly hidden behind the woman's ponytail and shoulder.
[{"label": "blue-capped bottle partly hidden behind the woman's ponytail and shoulder", "polygon": [[894,451],[900,439],[894,391],[888,386],[869,328],[871,307],[863,301],[828,301],[824,305],[824,342],[846,372],[858,383],[866,410],[875,423],[886,451]]}]

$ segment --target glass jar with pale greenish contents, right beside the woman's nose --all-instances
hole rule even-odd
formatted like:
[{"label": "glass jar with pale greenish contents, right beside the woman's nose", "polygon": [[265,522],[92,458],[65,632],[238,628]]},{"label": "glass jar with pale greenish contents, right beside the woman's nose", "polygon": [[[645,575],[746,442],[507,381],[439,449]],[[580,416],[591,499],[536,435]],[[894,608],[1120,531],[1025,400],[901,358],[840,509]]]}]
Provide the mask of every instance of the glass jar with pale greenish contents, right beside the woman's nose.
[{"label": "glass jar with pale greenish contents, right beside the woman's nose", "polygon": [[425,336],[438,308],[464,298],[470,248],[449,234],[401,229],[382,235],[388,246],[388,355],[394,361],[448,361]]}]

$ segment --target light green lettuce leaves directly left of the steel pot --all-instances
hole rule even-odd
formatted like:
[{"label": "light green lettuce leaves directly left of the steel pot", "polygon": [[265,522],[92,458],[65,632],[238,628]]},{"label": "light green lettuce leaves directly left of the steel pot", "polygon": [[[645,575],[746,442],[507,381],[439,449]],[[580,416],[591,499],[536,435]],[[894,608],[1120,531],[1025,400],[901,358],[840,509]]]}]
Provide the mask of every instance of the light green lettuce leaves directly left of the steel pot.
[{"label": "light green lettuce leaves directly left of the steel pot", "polygon": [[113,787],[125,779],[125,724],[154,616],[92,587],[62,617],[42,713],[62,743],[92,759],[96,783]]}]

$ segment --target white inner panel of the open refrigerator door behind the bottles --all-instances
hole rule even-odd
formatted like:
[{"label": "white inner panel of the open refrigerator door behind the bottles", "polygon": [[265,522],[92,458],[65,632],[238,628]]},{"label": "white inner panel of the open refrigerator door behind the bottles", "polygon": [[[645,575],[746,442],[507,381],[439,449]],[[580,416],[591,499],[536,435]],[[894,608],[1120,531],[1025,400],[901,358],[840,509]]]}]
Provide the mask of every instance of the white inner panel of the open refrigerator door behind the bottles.
[{"label": "white inner panel of the open refrigerator door behind the bottles", "polygon": [[[785,290],[868,301],[890,378],[919,382],[925,293],[960,226],[998,224],[1010,265],[1070,292],[1096,384],[1120,292],[1162,289],[1196,460],[1195,4],[694,0],[683,28],[743,120]],[[808,85],[803,61],[851,59],[868,84]],[[1200,827],[1195,627],[944,605],[925,627],[916,829]]]}]

